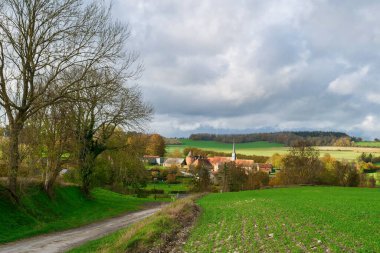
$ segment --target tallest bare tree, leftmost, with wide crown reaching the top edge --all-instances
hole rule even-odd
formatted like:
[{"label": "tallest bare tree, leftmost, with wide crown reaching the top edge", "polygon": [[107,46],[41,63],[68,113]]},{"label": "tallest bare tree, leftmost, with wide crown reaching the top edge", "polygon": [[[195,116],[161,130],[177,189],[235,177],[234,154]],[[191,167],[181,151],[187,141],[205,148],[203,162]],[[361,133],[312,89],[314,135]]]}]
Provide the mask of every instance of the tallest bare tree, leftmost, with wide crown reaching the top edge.
[{"label": "tallest bare tree, leftmost, with wide crown reaching the top edge", "polygon": [[[10,129],[9,190],[16,198],[19,136],[26,120],[75,92],[90,69],[115,64],[126,69],[134,62],[125,54],[128,27],[113,22],[109,8],[91,2],[0,1],[0,105]],[[65,79],[73,69],[75,78]]]}]

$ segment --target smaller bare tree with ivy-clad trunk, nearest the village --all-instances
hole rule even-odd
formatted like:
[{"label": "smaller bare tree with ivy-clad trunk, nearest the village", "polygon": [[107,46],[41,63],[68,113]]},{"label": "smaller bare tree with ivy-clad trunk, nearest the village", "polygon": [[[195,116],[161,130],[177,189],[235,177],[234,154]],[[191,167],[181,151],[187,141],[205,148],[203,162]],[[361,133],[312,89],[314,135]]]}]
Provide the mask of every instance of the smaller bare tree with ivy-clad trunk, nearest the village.
[{"label": "smaller bare tree with ivy-clad trunk, nearest the village", "polygon": [[107,142],[116,128],[143,129],[151,117],[152,108],[143,102],[137,87],[124,85],[127,79],[107,71],[91,72],[81,84],[92,88],[78,89],[73,98],[71,108],[76,122],[79,168],[82,188],[87,195],[95,159],[113,148],[107,146]]}]

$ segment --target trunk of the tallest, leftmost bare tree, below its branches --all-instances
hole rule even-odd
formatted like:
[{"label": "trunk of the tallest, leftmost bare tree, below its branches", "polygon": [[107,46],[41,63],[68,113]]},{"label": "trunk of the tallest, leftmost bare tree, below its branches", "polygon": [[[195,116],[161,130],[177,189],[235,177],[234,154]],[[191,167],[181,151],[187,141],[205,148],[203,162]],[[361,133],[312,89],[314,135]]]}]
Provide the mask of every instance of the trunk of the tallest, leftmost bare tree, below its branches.
[{"label": "trunk of the tallest, leftmost bare tree, below its branches", "polygon": [[10,127],[9,136],[9,171],[8,171],[8,187],[9,191],[17,200],[17,175],[20,166],[20,150],[19,150],[19,135],[21,125],[13,125]]}]

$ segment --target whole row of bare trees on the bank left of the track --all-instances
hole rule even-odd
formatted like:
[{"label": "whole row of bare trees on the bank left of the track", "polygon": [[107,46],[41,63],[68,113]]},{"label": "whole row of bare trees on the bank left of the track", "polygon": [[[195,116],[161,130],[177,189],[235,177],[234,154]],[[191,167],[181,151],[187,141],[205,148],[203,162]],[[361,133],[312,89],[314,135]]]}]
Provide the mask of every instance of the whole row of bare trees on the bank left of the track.
[{"label": "whole row of bare trees on the bank left of the track", "polygon": [[138,88],[126,86],[142,69],[129,36],[100,1],[0,1],[0,106],[14,198],[26,154],[30,169],[43,168],[48,192],[70,160],[88,194],[95,159],[121,148],[110,146],[115,131],[150,119]]}]

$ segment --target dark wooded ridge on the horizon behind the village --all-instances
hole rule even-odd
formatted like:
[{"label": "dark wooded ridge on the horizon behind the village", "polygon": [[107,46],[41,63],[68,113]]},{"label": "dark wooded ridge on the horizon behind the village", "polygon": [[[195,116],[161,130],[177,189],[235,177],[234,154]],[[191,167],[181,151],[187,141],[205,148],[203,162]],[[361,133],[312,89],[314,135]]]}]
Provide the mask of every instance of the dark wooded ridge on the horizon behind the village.
[{"label": "dark wooded ridge on the horizon behind the village", "polygon": [[246,143],[255,141],[268,141],[292,146],[300,141],[306,141],[314,146],[347,146],[351,141],[357,141],[349,135],[341,132],[276,132],[276,133],[252,133],[252,134],[192,134],[191,140],[219,141],[224,143]]}]

